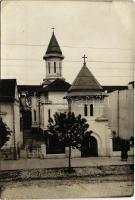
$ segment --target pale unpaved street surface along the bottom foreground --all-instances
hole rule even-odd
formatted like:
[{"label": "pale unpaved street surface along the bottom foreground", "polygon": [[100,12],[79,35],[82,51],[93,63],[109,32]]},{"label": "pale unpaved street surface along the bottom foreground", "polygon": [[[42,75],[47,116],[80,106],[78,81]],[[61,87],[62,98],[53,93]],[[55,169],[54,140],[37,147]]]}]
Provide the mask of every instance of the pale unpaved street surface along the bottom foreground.
[{"label": "pale unpaved street surface along the bottom foreground", "polygon": [[1,183],[1,198],[81,198],[133,195],[133,174]]}]

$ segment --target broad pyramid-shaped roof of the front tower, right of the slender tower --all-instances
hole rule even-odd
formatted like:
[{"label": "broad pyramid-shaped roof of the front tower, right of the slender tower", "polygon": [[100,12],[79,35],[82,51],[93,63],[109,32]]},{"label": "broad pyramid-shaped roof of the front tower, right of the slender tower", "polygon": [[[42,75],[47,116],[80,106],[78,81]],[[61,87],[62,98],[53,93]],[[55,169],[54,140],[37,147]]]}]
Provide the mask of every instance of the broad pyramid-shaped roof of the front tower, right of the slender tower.
[{"label": "broad pyramid-shaped roof of the front tower, right of the slender tower", "polygon": [[102,86],[98,83],[96,78],[87,68],[86,64],[83,65],[73,84],[69,88],[69,92],[73,91],[101,91]]}]

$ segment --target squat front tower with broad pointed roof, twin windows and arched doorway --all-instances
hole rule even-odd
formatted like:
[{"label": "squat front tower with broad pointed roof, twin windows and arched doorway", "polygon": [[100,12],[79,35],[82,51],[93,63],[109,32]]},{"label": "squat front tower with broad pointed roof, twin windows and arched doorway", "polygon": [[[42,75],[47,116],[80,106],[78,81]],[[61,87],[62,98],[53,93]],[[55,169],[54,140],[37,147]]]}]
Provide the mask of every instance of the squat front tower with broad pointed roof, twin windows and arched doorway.
[{"label": "squat front tower with broad pointed roof, twin windows and arched doorway", "polygon": [[83,67],[68,90],[70,111],[81,114],[89,124],[91,134],[87,146],[82,146],[82,156],[110,156],[112,153],[111,130],[103,115],[106,94],[102,86],[87,68]]}]

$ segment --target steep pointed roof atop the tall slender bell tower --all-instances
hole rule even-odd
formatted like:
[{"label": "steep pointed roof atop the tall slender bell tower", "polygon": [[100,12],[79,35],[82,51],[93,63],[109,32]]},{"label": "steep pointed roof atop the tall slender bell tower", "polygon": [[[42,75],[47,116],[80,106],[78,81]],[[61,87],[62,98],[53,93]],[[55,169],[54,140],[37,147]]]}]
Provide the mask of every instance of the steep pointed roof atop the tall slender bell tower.
[{"label": "steep pointed roof atop the tall slender bell tower", "polygon": [[49,42],[49,45],[48,45],[48,48],[47,48],[47,51],[46,51],[46,54],[44,56],[44,59],[47,58],[47,57],[50,57],[50,56],[55,56],[55,57],[61,57],[63,58],[63,55],[62,55],[62,51],[60,49],[60,46],[57,42],[57,39],[54,35],[54,32],[52,34],[52,37],[51,37],[51,40]]}]

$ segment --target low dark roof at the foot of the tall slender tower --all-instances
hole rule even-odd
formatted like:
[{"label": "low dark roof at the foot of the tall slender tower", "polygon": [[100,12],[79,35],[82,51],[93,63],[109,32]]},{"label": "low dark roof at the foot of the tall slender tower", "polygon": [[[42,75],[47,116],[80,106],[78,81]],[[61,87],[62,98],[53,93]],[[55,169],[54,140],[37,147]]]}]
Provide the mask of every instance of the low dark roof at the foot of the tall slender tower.
[{"label": "low dark roof at the foot of the tall slender tower", "polygon": [[64,81],[63,79],[56,79],[52,83],[50,83],[45,88],[41,89],[41,92],[49,92],[49,91],[67,91],[71,85]]}]

